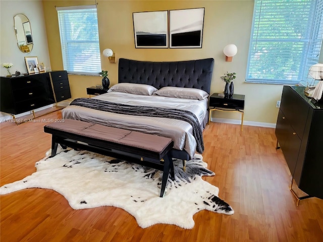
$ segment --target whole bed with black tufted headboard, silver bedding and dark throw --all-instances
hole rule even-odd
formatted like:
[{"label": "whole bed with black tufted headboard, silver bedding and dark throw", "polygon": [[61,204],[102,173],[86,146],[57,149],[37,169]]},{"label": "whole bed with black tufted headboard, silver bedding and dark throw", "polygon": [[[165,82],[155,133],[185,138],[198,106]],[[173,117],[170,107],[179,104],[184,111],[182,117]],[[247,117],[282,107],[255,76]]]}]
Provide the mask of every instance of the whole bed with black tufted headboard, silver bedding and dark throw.
[{"label": "whole bed with black tufted headboard, silver bedding and dark throw", "polygon": [[180,62],[120,58],[118,84],[106,94],[74,100],[62,110],[63,118],[172,138],[172,157],[189,160],[204,148],[197,130],[208,121],[213,65],[213,58]]}]

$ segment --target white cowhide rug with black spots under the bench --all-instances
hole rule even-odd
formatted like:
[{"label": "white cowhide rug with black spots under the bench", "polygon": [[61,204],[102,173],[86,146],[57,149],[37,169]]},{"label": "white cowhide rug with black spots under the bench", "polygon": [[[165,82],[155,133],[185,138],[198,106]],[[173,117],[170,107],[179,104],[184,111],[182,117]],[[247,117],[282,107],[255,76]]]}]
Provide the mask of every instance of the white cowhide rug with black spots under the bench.
[{"label": "white cowhide rug with black spots under the bench", "polygon": [[202,180],[214,175],[201,156],[175,160],[175,180],[168,180],[164,198],[159,197],[162,171],[112,157],[73,149],[59,150],[36,163],[37,171],[0,188],[8,194],[26,188],[52,189],[62,194],[73,209],[115,206],[132,214],[140,227],[157,223],[193,228],[193,215],[203,209],[233,214],[218,198],[219,189]]}]

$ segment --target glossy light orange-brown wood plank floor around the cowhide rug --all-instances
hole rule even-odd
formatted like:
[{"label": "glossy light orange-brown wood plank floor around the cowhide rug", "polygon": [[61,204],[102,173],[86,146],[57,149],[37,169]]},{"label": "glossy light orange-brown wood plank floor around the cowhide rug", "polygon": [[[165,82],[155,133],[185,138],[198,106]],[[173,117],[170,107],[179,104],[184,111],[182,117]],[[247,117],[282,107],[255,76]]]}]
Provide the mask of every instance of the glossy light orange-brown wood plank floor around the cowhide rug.
[{"label": "glossy light orange-brown wood plank floor around the cowhide rug", "polygon": [[[37,120],[50,118],[61,112]],[[35,172],[50,148],[45,124],[1,124],[1,186]],[[204,210],[190,230],[166,224],[142,229],[120,208],[73,210],[55,191],[26,189],[0,196],[1,241],[323,241],[323,200],[296,206],[274,129],[244,126],[241,132],[239,125],[211,123],[203,135],[203,160],[216,173],[203,179],[219,187],[233,215]]]}]

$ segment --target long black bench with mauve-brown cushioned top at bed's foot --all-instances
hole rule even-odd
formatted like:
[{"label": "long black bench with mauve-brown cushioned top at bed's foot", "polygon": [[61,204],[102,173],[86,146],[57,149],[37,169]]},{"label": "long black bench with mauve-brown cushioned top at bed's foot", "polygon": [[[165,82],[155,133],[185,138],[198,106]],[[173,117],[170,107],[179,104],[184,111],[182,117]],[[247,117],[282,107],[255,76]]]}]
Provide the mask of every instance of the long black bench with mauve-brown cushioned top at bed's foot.
[{"label": "long black bench with mauve-brown cushioned top at bed's foot", "polygon": [[92,124],[74,119],[44,126],[52,135],[51,156],[58,144],[83,149],[162,170],[160,197],[164,196],[169,173],[174,179],[174,165],[170,155],[174,142],[170,138],[144,134],[119,128]]}]

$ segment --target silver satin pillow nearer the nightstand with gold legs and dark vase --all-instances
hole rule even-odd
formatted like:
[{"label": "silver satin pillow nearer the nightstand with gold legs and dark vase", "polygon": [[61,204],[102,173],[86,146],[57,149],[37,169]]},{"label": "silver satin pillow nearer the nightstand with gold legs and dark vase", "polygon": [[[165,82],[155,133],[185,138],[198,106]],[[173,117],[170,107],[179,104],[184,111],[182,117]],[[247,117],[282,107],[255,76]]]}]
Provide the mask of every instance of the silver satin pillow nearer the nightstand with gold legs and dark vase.
[{"label": "silver satin pillow nearer the nightstand with gold legs and dark vase", "polygon": [[188,87],[163,87],[156,91],[154,94],[164,97],[177,97],[197,100],[202,100],[208,97],[207,92],[200,89]]}]

